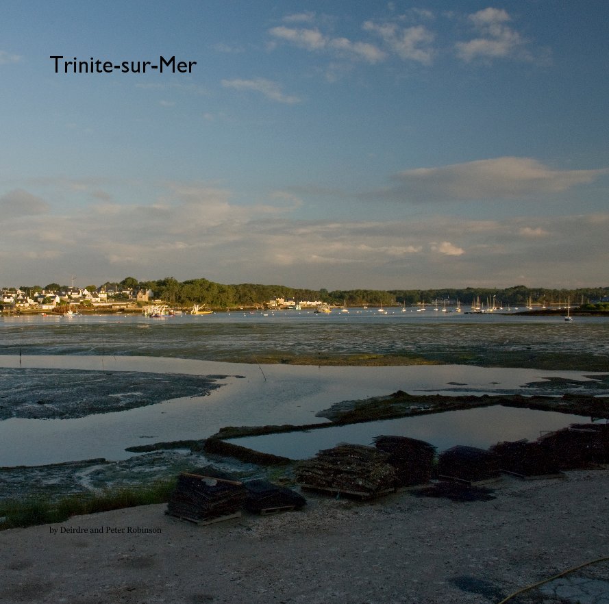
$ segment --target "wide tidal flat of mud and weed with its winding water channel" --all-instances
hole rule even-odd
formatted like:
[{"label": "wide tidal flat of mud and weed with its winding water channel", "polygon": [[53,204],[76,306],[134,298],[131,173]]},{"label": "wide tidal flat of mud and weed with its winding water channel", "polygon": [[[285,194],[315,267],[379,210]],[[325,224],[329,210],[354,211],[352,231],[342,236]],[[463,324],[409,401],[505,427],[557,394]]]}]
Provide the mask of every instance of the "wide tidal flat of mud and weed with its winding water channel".
[{"label": "wide tidal flat of mud and weed with its winding water channel", "polygon": [[[60,496],[206,464],[289,480],[289,467],[179,443],[227,427],[327,425],[320,412],[339,407],[357,414],[367,407],[369,416],[357,418],[365,423],[377,419],[378,401],[399,391],[418,398],[410,407],[436,395],[451,408],[464,403],[455,397],[545,397],[560,412],[586,415],[606,403],[603,318],[565,325],[554,317],[420,315],[3,318],[0,366],[12,381],[0,405],[15,410],[20,392],[29,398],[21,416],[0,420],[0,485],[7,495]],[[105,392],[104,380],[112,386]],[[441,415],[446,409],[435,403]],[[63,411],[34,413],[53,407]],[[146,445],[147,453],[127,451]]]}]

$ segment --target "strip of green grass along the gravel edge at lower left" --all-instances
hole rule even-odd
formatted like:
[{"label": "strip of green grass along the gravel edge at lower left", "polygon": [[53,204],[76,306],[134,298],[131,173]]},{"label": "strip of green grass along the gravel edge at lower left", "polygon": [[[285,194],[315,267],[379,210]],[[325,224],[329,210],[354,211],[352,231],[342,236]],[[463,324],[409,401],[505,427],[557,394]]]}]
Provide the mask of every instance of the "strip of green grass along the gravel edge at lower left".
[{"label": "strip of green grass along the gravel edge at lower left", "polygon": [[72,516],[109,512],[112,509],[166,503],[176,479],[156,481],[149,486],[105,489],[92,494],[75,494],[53,501],[49,496],[29,496],[0,503],[0,530],[61,523]]}]

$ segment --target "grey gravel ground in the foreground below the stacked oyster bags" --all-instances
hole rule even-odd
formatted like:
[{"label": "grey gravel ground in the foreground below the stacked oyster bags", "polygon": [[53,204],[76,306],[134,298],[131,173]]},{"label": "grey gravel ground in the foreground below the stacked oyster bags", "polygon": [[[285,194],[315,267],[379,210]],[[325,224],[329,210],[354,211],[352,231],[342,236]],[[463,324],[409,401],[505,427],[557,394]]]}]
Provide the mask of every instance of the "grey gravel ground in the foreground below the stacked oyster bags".
[{"label": "grey gravel ground in the foreground below the stacked oyster bags", "polygon": [[491,488],[467,503],[307,493],[299,512],[206,526],[150,505],[2,531],[0,602],[497,604],[609,555],[609,470]]}]

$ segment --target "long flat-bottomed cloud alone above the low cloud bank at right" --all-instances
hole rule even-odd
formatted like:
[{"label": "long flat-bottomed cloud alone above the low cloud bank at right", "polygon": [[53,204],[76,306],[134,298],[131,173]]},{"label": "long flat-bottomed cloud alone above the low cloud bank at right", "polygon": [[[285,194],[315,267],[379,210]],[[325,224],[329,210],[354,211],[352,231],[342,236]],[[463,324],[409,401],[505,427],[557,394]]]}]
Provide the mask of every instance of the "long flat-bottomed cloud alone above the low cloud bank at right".
[{"label": "long flat-bottomed cloud alone above the low cloud bank at right", "polygon": [[504,157],[414,168],[399,173],[394,196],[405,201],[510,199],[557,193],[590,183],[608,170],[553,170],[532,158]]}]

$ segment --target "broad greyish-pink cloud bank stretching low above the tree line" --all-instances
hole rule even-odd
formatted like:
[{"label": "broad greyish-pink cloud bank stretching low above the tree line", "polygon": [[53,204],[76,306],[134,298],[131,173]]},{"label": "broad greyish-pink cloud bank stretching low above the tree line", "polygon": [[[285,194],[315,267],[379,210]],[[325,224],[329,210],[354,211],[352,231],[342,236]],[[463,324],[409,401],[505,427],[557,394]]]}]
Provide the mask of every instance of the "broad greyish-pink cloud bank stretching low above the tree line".
[{"label": "broad greyish-pink cloud bank stretching low above the tree line", "polygon": [[[60,182],[47,186],[65,190]],[[332,289],[523,281],[575,287],[602,284],[609,264],[606,212],[501,221],[313,221],[294,217],[299,197],[284,190],[244,205],[227,188],[175,181],[154,184],[153,203],[125,202],[132,197],[129,188],[138,187],[114,184],[116,203],[91,203],[90,190],[84,190],[79,194],[87,203],[66,215],[27,192],[5,194],[1,203],[21,199],[32,205],[3,231],[4,284],[65,282],[77,274],[93,283],[174,275]],[[35,260],[41,258],[45,262]]]}]

